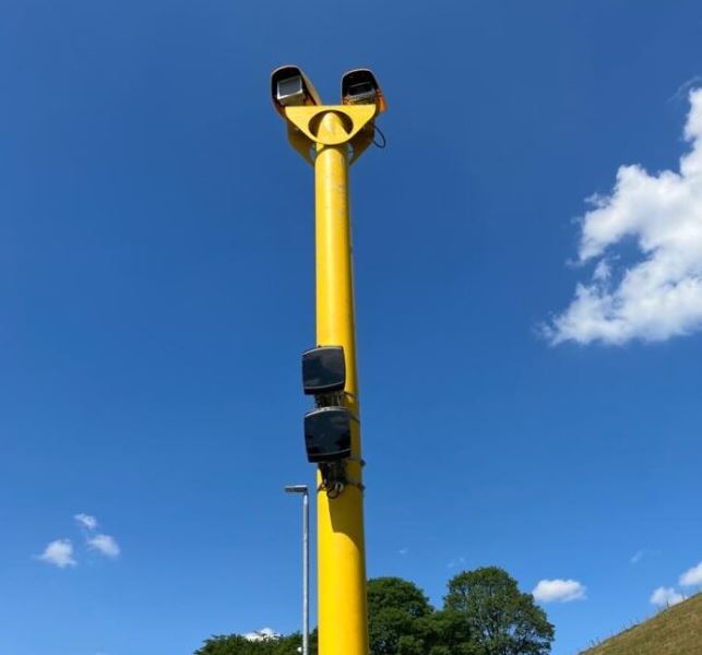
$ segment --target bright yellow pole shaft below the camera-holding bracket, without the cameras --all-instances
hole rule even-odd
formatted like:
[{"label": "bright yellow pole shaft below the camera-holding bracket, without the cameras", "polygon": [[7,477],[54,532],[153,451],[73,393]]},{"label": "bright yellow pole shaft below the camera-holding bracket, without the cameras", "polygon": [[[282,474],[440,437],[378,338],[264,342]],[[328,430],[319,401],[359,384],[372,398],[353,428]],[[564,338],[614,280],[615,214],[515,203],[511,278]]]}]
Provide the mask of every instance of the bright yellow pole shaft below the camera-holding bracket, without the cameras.
[{"label": "bright yellow pole shaft below the camera-holding bracket, without the cameras", "polygon": [[[325,112],[320,141],[346,134],[342,119]],[[336,141],[338,142],[338,141]],[[343,346],[345,405],[360,419],[356,374],[354,279],[348,212],[348,144],[318,145],[314,160],[317,209],[317,342]],[[361,483],[359,424],[352,421],[348,478]],[[318,481],[320,480],[318,474]],[[364,496],[349,484],[337,498],[318,493],[318,599],[320,655],[368,655]]]}]

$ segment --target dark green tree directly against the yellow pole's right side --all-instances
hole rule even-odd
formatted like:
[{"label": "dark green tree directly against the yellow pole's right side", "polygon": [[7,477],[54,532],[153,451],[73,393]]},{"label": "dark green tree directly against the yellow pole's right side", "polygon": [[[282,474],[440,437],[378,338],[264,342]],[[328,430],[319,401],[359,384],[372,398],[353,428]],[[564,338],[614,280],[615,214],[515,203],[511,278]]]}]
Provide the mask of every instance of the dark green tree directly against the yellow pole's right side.
[{"label": "dark green tree directly against the yellow pole's right side", "polygon": [[433,611],[414,583],[401,577],[368,581],[368,636],[371,655],[424,655],[418,620]]}]

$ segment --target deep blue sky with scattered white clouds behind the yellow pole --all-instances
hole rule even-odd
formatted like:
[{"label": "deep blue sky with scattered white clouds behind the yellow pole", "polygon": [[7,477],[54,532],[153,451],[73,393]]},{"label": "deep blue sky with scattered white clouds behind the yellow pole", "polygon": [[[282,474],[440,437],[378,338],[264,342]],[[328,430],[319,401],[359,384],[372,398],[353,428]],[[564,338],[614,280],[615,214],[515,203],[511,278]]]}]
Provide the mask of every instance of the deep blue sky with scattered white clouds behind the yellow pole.
[{"label": "deep blue sky with scattered white clouds behind the yellow pole", "polygon": [[440,604],[504,567],[556,655],[693,593],[701,31],[686,0],[0,2],[0,651],[298,626],[288,62],[389,102],[352,176],[369,574]]}]

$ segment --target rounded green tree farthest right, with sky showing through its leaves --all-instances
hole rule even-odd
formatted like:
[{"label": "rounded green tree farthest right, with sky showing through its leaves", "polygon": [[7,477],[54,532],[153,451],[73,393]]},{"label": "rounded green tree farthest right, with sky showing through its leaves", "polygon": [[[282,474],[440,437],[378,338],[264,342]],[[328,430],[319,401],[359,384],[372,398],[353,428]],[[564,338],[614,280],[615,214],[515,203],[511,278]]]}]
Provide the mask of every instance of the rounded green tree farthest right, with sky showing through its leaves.
[{"label": "rounded green tree farthest right, with sky showing through its leaves", "polygon": [[[547,655],[554,626],[531,594],[497,567],[464,571],[449,581],[444,610],[469,635],[466,653],[476,655]],[[461,639],[465,639],[464,635]],[[447,644],[451,647],[451,644]],[[462,651],[459,651],[461,653]]]}]

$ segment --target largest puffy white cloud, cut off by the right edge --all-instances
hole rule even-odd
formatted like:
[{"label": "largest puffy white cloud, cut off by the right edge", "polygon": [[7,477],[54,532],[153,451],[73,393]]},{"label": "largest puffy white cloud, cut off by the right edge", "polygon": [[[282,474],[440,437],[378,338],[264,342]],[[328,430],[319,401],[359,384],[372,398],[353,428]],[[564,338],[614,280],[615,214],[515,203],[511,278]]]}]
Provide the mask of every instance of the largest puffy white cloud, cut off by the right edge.
[{"label": "largest puffy white cloud, cut off by the right edge", "polygon": [[[552,344],[655,342],[702,330],[702,90],[689,98],[690,150],[679,171],[621,166],[612,192],[588,199],[579,261],[597,263],[544,327]],[[628,239],[639,258],[627,263],[615,247]]]}]

